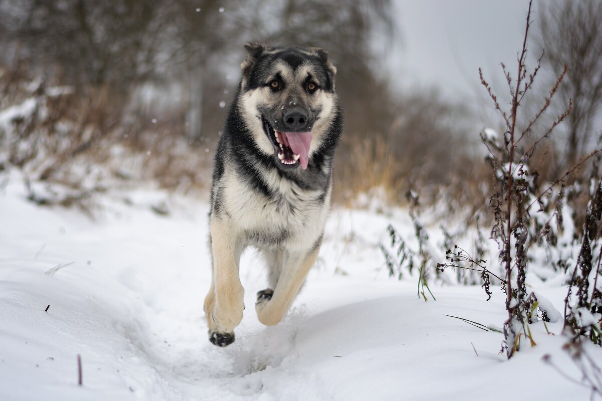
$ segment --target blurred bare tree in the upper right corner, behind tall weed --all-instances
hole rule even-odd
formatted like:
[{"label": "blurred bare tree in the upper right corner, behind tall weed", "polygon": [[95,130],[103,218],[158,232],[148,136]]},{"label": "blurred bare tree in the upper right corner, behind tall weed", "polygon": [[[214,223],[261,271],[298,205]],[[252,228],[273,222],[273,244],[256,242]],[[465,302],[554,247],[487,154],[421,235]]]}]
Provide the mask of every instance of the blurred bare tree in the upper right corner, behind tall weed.
[{"label": "blurred bare tree in the upper right corner, behind tall weed", "polygon": [[[602,104],[602,1],[541,2],[538,42],[544,51],[542,64],[559,75],[568,73],[560,91],[573,110],[567,124],[565,167],[571,167],[595,142],[596,118]],[[563,105],[566,107],[566,105]],[[598,126],[599,130],[599,126]],[[588,143],[588,140],[591,141]],[[557,167],[557,171],[562,166]]]}]

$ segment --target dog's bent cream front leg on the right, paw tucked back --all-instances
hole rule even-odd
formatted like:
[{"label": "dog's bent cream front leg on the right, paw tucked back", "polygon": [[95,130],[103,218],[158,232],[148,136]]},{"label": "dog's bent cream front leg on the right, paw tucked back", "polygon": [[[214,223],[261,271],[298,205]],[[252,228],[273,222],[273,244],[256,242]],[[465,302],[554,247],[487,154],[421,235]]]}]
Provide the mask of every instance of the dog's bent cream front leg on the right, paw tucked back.
[{"label": "dog's bent cream front leg on the right, paw tucked back", "polygon": [[314,265],[318,251],[319,247],[308,253],[290,254],[273,292],[263,290],[257,293],[255,310],[259,322],[273,326],[282,320],[299,293],[309,269]]}]

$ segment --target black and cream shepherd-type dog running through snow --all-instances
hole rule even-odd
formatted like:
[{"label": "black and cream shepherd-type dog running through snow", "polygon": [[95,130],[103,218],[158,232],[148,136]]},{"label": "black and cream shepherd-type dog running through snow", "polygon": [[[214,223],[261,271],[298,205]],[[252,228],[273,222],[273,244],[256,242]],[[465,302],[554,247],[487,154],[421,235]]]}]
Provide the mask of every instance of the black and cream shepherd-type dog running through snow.
[{"label": "black and cream shepherd-type dog running through snow", "polygon": [[265,257],[269,287],[257,293],[259,322],[285,316],[318,256],[330,209],[332,164],[343,130],[337,69],[315,47],[247,43],[242,78],[215,157],[205,298],[209,341],[225,347],[243,318],[241,253]]}]

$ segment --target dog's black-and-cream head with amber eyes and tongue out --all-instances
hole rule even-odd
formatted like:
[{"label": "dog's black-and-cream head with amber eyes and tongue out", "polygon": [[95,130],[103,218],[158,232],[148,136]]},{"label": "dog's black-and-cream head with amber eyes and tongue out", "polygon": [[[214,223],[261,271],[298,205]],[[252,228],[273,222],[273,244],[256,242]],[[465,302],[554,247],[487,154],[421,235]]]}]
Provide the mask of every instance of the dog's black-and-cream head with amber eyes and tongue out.
[{"label": "dog's black-and-cream head with amber eyes and tongue out", "polygon": [[245,44],[241,112],[258,148],[279,168],[307,168],[335,118],[337,69],[316,47]]}]

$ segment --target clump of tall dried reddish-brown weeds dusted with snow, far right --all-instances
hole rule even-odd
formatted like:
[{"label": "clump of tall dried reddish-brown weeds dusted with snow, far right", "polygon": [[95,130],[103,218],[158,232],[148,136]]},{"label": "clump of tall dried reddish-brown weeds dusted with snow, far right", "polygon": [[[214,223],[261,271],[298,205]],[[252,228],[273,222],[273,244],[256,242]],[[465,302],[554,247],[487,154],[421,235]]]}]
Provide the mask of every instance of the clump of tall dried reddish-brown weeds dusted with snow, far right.
[{"label": "clump of tall dried reddish-brown weeds dusted with snow, far right", "polygon": [[[565,302],[565,327],[572,328],[573,339],[586,336],[594,343],[600,344],[600,315],[592,316],[592,304],[599,293],[597,289],[589,289],[589,283],[594,281],[595,287],[598,268],[592,269],[592,246],[598,242],[600,236],[598,222],[602,210],[602,181],[598,173],[600,150],[595,150],[580,159],[565,174],[551,183],[540,183],[537,172],[537,158],[534,157],[542,141],[547,139],[558,124],[571,112],[571,102],[568,108],[546,128],[541,128],[540,117],[550,107],[550,102],[557,93],[566,74],[566,66],[557,77],[553,87],[539,106],[535,115],[528,116],[525,96],[532,90],[535,78],[540,68],[540,61],[532,71],[527,70],[527,37],[531,24],[531,7],[527,14],[527,23],[524,34],[523,47],[518,57],[518,75],[513,78],[504,64],[501,67],[511,95],[509,109],[504,109],[491,85],[480,73],[480,80],[491,97],[494,108],[503,120],[504,133],[497,135],[494,130],[486,129],[481,134],[483,144],[487,148],[488,160],[492,168],[494,180],[492,188],[494,193],[489,198],[489,212],[492,214],[491,237],[498,245],[498,258],[492,265],[500,263],[504,273],[504,291],[506,293],[506,309],[508,318],[504,323],[506,349],[510,358],[520,349],[521,337],[529,338],[533,345],[529,324],[538,320],[538,299],[535,293],[529,292],[526,286],[527,269],[539,249],[547,251],[548,262],[551,269],[566,273],[572,260],[571,254],[563,252],[562,247],[570,240],[563,236],[563,223],[565,210],[568,209],[566,187],[571,180],[571,189],[579,188],[579,177],[576,171],[582,170],[586,162],[595,158],[592,169],[590,201],[586,221],[582,230],[580,242],[582,246],[577,257],[577,264],[573,275],[568,281],[568,293],[571,294],[573,286],[577,287],[577,302],[574,307],[569,304],[569,296]],[[521,121],[528,121],[521,124]],[[573,225],[573,227],[575,227]],[[579,231],[573,230],[574,233]],[[575,237],[576,234],[573,234]],[[559,237],[562,239],[559,241]],[[598,244],[600,247],[602,244]],[[600,247],[602,249],[602,247]],[[449,255],[450,253],[448,253]],[[602,255],[602,254],[601,254]],[[556,261],[551,260],[554,257]],[[489,281],[488,270],[481,266],[483,260],[474,261],[471,257],[462,255],[462,251],[451,253],[452,265],[455,263],[469,263],[464,268],[474,268],[474,265],[483,269],[483,285],[487,288]],[[446,264],[447,265],[447,264]],[[445,265],[441,265],[445,266]],[[446,266],[447,267],[447,266]],[[491,270],[491,269],[489,269]],[[580,272],[580,275],[577,272]],[[577,280],[577,277],[580,280]],[[595,278],[594,278],[595,277]],[[542,277],[542,279],[544,279]],[[541,309],[541,307],[540,307]],[[573,310],[579,313],[577,316]],[[545,312],[545,311],[544,311]],[[544,314],[544,317],[547,314]]]}]

